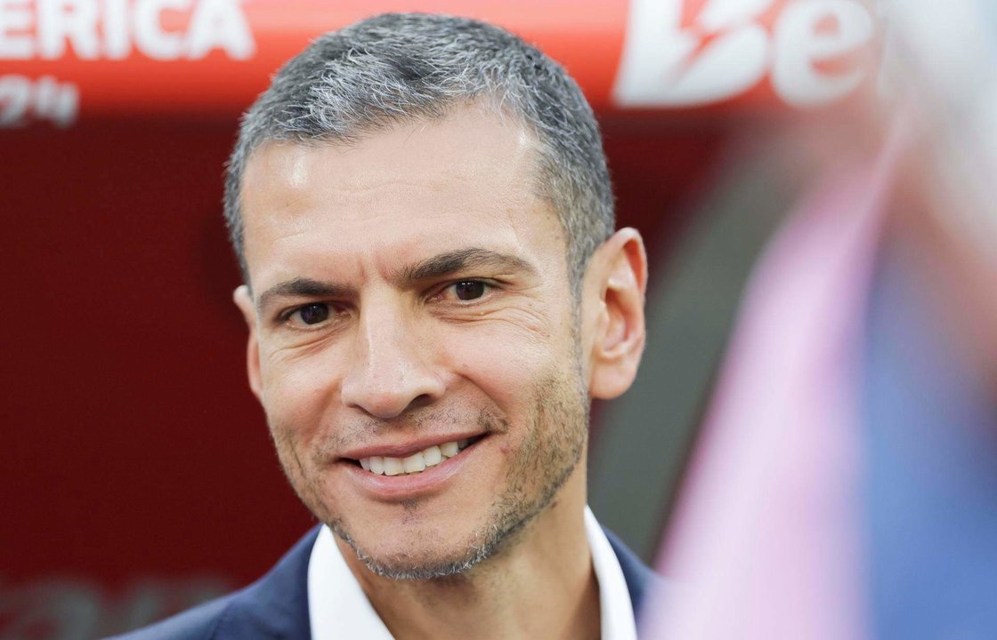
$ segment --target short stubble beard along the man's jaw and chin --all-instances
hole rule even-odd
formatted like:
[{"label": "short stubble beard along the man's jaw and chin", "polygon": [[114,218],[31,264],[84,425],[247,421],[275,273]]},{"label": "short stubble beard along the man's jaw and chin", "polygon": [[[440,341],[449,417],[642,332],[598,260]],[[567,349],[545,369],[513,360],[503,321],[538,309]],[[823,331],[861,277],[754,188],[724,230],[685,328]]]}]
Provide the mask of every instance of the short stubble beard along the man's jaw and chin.
[{"label": "short stubble beard along the man's jaw and chin", "polygon": [[[517,534],[554,500],[581,460],[588,435],[588,394],[580,367],[552,373],[534,386],[533,417],[505,476],[505,490],[493,503],[486,524],[472,533],[463,549],[425,557],[423,540],[410,540],[410,549],[381,557],[367,552],[351,533],[345,519],[333,515],[321,500],[316,478],[308,479],[288,436],[272,428],[284,473],[295,493],[320,522],[350,545],[357,557],[377,575],[396,580],[432,580],[468,572],[514,543]],[[487,411],[480,422],[494,422]],[[283,442],[278,441],[283,440]],[[418,507],[416,507],[418,508]]]}]

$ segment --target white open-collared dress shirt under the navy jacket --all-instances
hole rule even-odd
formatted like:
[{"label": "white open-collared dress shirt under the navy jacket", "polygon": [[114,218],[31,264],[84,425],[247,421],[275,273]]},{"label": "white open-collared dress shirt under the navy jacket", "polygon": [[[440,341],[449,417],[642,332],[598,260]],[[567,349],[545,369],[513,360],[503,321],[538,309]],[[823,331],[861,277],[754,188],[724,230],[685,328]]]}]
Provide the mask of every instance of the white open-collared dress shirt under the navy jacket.
[{"label": "white open-collared dress shirt under the navy jacket", "polygon": [[[633,607],[623,569],[588,507],[585,534],[599,583],[602,640],[636,640]],[[393,640],[347,566],[328,527],[322,527],[318,533],[308,560],[308,615],[312,640]]]}]

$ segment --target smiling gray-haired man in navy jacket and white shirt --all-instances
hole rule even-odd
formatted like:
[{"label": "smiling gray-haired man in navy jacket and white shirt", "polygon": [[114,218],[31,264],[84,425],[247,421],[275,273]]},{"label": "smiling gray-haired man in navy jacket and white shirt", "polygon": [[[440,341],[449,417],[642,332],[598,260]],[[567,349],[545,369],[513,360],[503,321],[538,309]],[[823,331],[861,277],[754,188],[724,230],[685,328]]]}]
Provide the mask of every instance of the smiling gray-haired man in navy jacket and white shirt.
[{"label": "smiling gray-haired man in navy jacket and white shirt", "polygon": [[652,577],[582,461],[646,258],[565,72],[467,19],[327,34],[243,119],[225,215],[249,383],[322,527],[134,637],[634,637]]}]

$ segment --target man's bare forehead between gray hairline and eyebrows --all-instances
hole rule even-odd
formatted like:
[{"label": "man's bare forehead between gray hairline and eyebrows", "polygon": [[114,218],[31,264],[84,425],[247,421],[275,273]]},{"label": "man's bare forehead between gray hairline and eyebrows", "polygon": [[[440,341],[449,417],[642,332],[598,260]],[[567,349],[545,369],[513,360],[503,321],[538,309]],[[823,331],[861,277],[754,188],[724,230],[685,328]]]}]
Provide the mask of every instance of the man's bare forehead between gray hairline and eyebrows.
[{"label": "man's bare forehead between gray hairline and eyebrows", "polygon": [[387,270],[469,246],[562,260],[560,224],[535,193],[534,149],[511,118],[474,107],[349,145],[268,142],[243,176],[250,280]]}]

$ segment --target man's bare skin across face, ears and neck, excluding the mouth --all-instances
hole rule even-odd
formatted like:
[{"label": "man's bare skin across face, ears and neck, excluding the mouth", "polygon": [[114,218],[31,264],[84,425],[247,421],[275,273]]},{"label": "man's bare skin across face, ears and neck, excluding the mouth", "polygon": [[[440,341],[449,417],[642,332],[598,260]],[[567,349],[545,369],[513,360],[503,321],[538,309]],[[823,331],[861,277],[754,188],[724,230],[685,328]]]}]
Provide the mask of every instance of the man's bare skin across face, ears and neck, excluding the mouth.
[{"label": "man's bare skin across face, ears and neck, excluding the mouth", "polygon": [[[397,638],[599,635],[578,463],[591,398],[622,393],[639,363],[646,258],[618,231],[573,300],[533,148],[464,107],[349,146],[267,143],[246,167],[252,290],[234,300],[250,386],[292,487]],[[458,435],[482,439],[404,500],[349,459]],[[439,570],[483,546],[450,577],[371,570]]]}]

